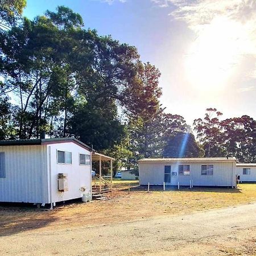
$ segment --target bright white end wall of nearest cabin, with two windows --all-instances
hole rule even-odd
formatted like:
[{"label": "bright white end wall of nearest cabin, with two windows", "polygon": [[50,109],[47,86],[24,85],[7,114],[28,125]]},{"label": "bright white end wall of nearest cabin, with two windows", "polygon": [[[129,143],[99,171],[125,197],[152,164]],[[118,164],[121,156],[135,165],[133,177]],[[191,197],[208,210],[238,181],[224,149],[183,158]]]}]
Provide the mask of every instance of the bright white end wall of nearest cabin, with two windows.
[{"label": "bright white end wall of nearest cabin, with two windows", "polygon": [[[72,152],[72,164],[57,163],[57,150]],[[56,143],[47,145],[48,172],[51,177],[48,180],[48,191],[51,203],[76,199],[82,196],[81,187],[86,187],[86,193],[92,190],[91,162],[88,166],[79,164],[79,154],[91,155],[89,150],[75,143]],[[68,174],[68,191],[58,190],[58,174]],[[51,185],[50,185],[51,184]],[[50,203],[49,201],[49,203]]]}]

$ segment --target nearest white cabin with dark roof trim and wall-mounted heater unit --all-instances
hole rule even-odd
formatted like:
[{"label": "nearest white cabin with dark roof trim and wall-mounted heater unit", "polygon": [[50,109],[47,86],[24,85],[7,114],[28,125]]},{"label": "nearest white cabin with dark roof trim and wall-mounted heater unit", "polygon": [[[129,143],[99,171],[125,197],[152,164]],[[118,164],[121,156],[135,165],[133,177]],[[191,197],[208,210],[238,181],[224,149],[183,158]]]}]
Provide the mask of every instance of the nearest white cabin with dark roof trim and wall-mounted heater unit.
[{"label": "nearest white cabin with dark roof trim and wall-mounted heater unit", "polygon": [[92,156],[104,155],[75,138],[0,141],[0,202],[55,205],[91,195]]}]

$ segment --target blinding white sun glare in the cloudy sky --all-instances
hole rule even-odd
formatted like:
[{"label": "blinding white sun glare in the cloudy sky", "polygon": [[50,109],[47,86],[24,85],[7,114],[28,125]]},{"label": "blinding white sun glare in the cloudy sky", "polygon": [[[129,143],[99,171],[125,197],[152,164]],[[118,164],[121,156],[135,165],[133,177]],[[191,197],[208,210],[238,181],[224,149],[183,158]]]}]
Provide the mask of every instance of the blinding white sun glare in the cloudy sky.
[{"label": "blinding white sun glare in the cloudy sky", "polygon": [[185,57],[187,79],[197,90],[222,90],[240,56],[242,25],[216,18],[200,28],[198,35]]}]

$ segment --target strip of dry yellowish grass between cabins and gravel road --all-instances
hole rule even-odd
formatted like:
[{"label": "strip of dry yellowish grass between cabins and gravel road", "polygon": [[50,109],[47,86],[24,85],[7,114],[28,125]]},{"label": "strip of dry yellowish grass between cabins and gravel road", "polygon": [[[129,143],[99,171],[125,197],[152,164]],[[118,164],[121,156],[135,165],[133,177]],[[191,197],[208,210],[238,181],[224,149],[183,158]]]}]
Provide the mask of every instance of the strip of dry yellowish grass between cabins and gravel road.
[{"label": "strip of dry yellowish grass between cabins and gravel road", "polygon": [[[138,184],[122,181],[115,187]],[[256,201],[256,184],[241,184],[238,189],[181,188],[180,191],[162,191],[155,188],[115,188],[113,197],[92,203],[71,203],[52,211],[35,208],[0,206],[0,236],[31,229],[56,229],[73,226],[104,225],[139,218],[183,214],[199,210],[227,207]]]}]

